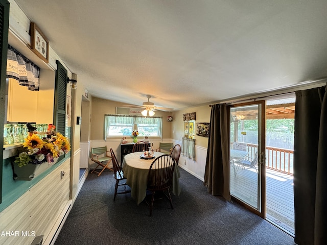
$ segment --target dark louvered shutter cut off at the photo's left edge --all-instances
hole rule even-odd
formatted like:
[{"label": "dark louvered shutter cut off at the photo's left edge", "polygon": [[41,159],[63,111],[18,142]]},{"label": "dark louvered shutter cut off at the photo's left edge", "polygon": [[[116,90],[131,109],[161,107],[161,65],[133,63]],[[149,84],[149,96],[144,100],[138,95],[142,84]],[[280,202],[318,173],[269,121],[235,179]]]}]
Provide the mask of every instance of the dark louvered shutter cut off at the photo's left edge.
[{"label": "dark louvered shutter cut off at the photo's left edge", "polygon": [[[4,124],[6,106],[6,69],[8,49],[8,27],[9,27],[9,3],[0,0],[0,145],[4,145]],[[3,159],[3,150],[0,151],[0,159]],[[0,203],[2,200],[2,165],[0,164]]]}]

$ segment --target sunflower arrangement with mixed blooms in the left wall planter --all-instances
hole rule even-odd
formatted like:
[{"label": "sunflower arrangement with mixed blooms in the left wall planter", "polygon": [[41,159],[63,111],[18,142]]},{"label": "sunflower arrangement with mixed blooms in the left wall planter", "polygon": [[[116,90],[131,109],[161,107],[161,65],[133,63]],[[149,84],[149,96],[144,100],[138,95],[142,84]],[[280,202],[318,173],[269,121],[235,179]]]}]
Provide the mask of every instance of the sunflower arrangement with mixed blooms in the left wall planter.
[{"label": "sunflower arrangement with mixed blooms in the left wall planter", "polygon": [[55,131],[56,126],[49,124],[46,137],[40,138],[35,131],[36,128],[27,125],[29,135],[23,143],[23,152],[16,157],[15,163],[19,167],[29,163],[41,164],[43,162],[54,162],[54,158],[67,154],[71,150],[68,138]]}]

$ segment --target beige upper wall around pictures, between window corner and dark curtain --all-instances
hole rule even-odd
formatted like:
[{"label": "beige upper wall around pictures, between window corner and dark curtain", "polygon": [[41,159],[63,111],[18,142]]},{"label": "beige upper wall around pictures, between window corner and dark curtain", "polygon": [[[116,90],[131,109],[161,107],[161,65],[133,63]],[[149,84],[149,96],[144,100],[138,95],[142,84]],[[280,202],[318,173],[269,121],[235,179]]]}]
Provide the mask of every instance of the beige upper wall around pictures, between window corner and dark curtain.
[{"label": "beige upper wall around pictures, between window corner and dark curtain", "polygon": [[[171,125],[172,130],[172,139],[175,140],[182,140],[184,136],[184,121],[183,121],[183,114],[184,113],[196,113],[196,120],[195,122],[210,122],[210,112],[211,107],[207,106],[198,106],[198,107],[190,107],[187,109],[183,109],[180,111],[172,112],[173,121]],[[195,144],[198,146],[202,146],[204,148],[208,145],[208,138],[197,136],[195,135]]]}]

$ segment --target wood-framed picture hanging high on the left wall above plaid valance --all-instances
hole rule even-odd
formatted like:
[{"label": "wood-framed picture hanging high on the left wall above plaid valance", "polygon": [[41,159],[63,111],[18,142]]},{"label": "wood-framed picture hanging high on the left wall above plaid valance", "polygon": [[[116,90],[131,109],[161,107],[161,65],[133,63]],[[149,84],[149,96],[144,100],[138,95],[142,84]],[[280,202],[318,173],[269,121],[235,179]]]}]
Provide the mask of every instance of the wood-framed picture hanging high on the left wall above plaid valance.
[{"label": "wood-framed picture hanging high on the left wall above plaid valance", "polygon": [[33,22],[31,22],[31,50],[45,63],[49,63],[49,41]]}]

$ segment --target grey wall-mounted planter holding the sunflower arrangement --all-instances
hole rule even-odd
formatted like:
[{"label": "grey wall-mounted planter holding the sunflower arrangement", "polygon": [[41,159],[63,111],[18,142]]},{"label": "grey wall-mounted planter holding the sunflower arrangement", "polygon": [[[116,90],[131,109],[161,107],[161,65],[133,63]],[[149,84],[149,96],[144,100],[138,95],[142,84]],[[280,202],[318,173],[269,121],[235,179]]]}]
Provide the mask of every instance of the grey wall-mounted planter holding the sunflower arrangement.
[{"label": "grey wall-mounted planter holding the sunflower arrangement", "polygon": [[18,167],[16,163],[12,163],[13,167],[13,179],[14,180],[33,180],[36,176],[42,174],[45,170],[48,170],[50,167],[52,167],[54,164],[57,163],[58,157],[55,157],[53,159],[54,161],[49,162],[43,162],[41,164],[32,164],[29,163],[25,166]]}]

